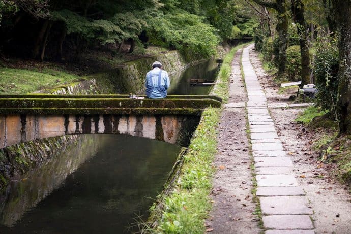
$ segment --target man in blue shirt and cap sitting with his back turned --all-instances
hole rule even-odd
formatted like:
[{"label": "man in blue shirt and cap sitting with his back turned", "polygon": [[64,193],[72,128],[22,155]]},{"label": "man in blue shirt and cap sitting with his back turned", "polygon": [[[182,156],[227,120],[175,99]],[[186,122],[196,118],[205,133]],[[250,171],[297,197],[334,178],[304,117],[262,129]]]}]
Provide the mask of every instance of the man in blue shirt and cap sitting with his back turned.
[{"label": "man in blue shirt and cap sitting with his back turned", "polygon": [[162,70],[162,64],[159,61],[154,62],[152,68],[153,70],[150,70],[146,75],[147,97],[152,99],[165,98],[170,85],[168,73]]}]

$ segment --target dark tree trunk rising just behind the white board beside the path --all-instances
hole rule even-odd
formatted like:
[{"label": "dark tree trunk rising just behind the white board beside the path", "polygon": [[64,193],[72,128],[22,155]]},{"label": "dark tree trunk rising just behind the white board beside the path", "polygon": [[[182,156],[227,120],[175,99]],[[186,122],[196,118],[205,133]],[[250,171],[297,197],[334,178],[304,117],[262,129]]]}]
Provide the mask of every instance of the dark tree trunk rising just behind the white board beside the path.
[{"label": "dark tree trunk rising just behind the white board beside the path", "polygon": [[297,23],[298,33],[300,36],[300,53],[301,53],[301,87],[310,83],[310,53],[308,48],[308,30],[304,17],[304,3],[302,0],[291,0],[291,10],[294,13],[295,23]]}]

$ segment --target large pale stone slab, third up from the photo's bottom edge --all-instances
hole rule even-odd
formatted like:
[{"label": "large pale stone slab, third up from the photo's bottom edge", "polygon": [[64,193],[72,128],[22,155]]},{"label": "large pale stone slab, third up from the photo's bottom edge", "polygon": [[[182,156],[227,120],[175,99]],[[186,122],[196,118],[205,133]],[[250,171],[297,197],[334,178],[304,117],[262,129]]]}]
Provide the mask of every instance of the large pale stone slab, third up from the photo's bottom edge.
[{"label": "large pale stone slab, third up from the photo's bottom edge", "polygon": [[264,215],[311,215],[305,196],[266,196],[259,198]]}]

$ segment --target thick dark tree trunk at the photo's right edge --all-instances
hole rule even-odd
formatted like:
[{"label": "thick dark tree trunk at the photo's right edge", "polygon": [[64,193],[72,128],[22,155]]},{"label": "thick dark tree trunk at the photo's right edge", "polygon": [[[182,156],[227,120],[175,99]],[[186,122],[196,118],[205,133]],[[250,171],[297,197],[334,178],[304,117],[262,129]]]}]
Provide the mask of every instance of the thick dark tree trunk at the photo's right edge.
[{"label": "thick dark tree trunk at the photo's right edge", "polygon": [[337,108],[340,133],[351,134],[351,0],[333,0],[339,31],[339,87]]}]

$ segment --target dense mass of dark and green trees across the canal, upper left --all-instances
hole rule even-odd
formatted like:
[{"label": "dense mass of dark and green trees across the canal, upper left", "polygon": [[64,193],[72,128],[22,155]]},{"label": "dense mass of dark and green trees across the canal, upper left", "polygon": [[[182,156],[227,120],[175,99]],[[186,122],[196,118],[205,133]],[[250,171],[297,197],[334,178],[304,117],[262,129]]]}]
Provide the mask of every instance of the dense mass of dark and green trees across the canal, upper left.
[{"label": "dense mass of dark and green trees across the canal, upper left", "polygon": [[77,61],[89,50],[142,54],[157,45],[209,57],[250,37],[256,21],[233,0],[0,0],[0,53]]}]

